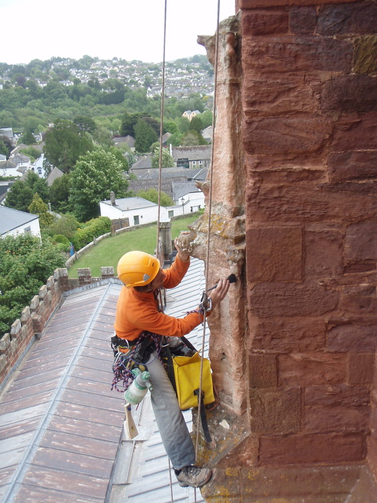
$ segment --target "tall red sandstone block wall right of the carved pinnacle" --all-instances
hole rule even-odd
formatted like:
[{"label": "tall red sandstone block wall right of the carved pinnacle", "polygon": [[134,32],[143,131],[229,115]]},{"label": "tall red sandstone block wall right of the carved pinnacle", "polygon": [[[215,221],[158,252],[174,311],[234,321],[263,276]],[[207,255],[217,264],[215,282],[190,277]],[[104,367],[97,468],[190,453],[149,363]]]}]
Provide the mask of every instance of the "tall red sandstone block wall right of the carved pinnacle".
[{"label": "tall red sandstone block wall right of the carved pinnacle", "polygon": [[377,5],[238,4],[249,462],[377,475]]}]

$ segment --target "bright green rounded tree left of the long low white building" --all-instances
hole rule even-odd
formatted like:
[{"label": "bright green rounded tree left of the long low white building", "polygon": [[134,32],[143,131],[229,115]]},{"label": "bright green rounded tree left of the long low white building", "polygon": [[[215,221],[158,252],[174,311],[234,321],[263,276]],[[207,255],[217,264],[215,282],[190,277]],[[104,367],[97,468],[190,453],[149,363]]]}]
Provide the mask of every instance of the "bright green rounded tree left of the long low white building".
[{"label": "bright green rounded tree left of the long low white building", "polygon": [[71,174],[69,196],[79,220],[98,216],[100,201],[110,199],[111,191],[117,197],[126,195],[128,181],[123,172],[122,162],[111,152],[100,149],[80,157]]}]

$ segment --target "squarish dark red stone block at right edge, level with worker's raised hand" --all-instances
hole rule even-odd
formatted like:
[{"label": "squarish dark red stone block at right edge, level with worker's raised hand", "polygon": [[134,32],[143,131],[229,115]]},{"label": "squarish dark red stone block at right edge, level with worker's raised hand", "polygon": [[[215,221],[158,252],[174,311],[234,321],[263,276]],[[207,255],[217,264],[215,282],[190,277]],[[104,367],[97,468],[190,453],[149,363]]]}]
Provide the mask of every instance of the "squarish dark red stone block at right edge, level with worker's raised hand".
[{"label": "squarish dark red stone block at right edge, level with worker's raised hand", "polygon": [[377,221],[347,227],[344,255],[346,261],[377,260]]}]

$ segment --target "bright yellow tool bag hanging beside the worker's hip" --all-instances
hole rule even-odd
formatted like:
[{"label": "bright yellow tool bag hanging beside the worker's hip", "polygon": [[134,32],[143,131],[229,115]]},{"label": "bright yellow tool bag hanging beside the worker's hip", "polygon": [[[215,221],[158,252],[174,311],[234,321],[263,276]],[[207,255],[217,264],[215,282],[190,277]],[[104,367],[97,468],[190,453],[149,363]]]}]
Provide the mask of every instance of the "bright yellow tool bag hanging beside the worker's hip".
[{"label": "bright yellow tool bag hanging beside the worker's hip", "polygon": [[[173,357],[175,387],[181,410],[198,407],[200,386],[201,357],[199,352],[194,356]],[[215,401],[212,385],[211,365],[207,358],[203,360],[202,394],[204,404]]]}]

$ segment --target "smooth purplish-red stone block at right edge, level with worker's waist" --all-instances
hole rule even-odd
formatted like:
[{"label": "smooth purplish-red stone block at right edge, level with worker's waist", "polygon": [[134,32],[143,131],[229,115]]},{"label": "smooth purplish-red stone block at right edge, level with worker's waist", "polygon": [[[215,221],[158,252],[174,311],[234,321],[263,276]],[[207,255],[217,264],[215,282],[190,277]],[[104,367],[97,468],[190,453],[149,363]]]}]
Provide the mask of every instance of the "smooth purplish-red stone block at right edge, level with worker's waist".
[{"label": "smooth purplish-red stone block at right edge, level with worker's waist", "polygon": [[377,337],[375,325],[345,323],[330,328],[327,337],[328,351],[375,351]]}]

